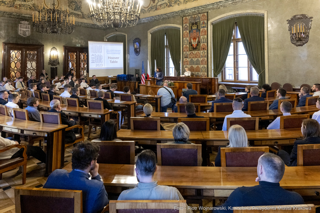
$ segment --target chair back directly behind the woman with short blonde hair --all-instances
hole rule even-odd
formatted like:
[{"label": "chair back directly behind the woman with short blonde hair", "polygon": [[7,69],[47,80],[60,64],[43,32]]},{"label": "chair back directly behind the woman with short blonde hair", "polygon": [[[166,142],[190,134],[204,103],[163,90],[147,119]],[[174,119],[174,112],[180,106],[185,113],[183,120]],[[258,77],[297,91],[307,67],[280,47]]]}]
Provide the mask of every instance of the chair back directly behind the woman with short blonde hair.
[{"label": "chair back directly behind the woman with short blonde hair", "polygon": [[160,130],[160,118],[131,117],[131,130]]}]

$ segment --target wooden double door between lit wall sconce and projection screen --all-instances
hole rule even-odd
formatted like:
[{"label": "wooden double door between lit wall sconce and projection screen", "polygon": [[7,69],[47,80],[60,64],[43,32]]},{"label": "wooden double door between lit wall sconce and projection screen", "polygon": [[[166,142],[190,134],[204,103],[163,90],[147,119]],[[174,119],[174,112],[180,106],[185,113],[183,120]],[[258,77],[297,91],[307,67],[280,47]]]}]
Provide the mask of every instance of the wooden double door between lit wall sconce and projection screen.
[{"label": "wooden double door between lit wall sconce and projection screen", "polygon": [[65,47],[63,46],[63,73],[64,75],[70,69],[74,69],[73,75],[77,79],[80,75],[88,80],[89,62],[88,62],[88,48],[84,47]]}]

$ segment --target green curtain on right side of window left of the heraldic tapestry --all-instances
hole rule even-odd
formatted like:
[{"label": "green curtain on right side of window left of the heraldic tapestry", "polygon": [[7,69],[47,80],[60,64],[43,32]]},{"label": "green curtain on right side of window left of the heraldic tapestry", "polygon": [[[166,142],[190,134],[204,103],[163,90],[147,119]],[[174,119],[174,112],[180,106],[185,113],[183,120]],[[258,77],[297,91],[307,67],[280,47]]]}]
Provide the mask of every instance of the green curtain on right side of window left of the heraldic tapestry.
[{"label": "green curtain on right side of window left of the heraldic tapestry", "polygon": [[169,51],[171,60],[176,70],[177,76],[180,76],[180,60],[181,60],[181,41],[180,41],[180,29],[166,28],[165,34],[169,43]]}]

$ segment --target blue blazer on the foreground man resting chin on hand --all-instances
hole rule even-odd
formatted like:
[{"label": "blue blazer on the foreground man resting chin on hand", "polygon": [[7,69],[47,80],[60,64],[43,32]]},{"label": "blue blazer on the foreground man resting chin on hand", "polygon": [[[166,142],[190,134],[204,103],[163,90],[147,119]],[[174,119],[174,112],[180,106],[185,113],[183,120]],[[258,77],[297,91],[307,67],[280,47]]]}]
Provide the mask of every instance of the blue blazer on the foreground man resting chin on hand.
[{"label": "blue blazer on the foreground man resting chin on hand", "polygon": [[100,175],[92,177],[82,171],[64,169],[54,170],[43,188],[82,190],[83,213],[96,213],[108,204],[108,194],[101,181]]}]

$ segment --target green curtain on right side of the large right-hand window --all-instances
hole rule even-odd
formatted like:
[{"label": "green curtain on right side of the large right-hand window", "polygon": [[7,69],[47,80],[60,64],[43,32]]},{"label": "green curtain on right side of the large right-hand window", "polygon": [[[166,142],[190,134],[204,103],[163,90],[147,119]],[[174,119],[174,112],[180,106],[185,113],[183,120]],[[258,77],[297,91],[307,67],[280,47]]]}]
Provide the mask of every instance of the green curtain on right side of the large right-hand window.
[{"label": "green curtain on right side of the large right-hand window", "polygon": [[236,18],[245,53],[259,74],[258,85],[266,82],[264,54],[264,17],[240,16]]}]

